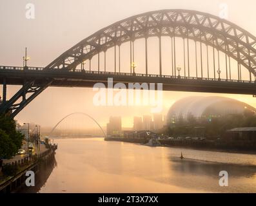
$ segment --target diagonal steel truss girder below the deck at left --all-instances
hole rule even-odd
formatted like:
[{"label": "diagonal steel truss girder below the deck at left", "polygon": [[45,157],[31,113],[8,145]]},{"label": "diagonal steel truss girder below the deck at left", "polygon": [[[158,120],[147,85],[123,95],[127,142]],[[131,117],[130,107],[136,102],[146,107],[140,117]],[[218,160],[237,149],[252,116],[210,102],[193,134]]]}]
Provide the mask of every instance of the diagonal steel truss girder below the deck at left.
[{"label": "diagonal steel truss girder below the deck at left", "polygon": [[[0,114],[9,113],[10,117],[14,118],[25,106],[27,106],[37,95],[39,95],[44,89],[46,89],[52,80],[45,80],[40,86],[34,85],[35,80],[28,80],[23,84],[23,87],[15,93],[15,95],[6,101],[5,104],[0,107]],[[30,96],[28,96],[30,95]],[[21,102],[17,101],[22,98]]]}]

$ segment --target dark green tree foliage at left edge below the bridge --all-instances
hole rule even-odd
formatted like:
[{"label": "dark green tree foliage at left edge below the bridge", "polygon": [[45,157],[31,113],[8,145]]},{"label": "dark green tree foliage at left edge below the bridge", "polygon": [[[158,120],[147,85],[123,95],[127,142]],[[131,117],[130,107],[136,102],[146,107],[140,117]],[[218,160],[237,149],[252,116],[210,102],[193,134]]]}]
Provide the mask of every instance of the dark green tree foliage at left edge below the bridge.
[{"label": "dark green tree foliage at left edge below the bridge", "polygon": [[21,148],[24,136],[16,131],[16,123],[10,117],[0,116],[0,158],[11,158]]}]

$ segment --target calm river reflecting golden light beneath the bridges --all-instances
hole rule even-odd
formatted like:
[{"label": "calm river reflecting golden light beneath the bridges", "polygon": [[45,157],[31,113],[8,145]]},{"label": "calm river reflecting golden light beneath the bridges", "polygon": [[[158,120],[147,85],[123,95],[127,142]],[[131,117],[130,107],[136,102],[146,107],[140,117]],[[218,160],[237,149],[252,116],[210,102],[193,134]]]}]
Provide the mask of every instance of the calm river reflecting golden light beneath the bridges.
[{"label": "calm river reflecting golden light beneath the bridges", "polygon": [[[148,147],[103,138],[55,143],[57,165],[39,192],[256,192],[255,154]],[[219,185],[220,171],[228,172],[228,187]]]}]

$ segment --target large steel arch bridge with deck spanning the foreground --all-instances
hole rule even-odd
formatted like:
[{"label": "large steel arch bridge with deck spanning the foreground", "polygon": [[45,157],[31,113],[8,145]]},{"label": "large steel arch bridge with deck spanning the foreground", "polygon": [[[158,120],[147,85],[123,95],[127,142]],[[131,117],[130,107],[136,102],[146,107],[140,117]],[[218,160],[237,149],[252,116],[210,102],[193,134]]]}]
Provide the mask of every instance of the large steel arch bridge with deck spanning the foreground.
[{"label": "large steel arch bridge with deck spanning the foreground", "polygon": [[[157,37],[159,41],[159,68],[154,74],[148,71],[150,37]],[[163,37],[171,39],[172,66],[168,75],[162,72]],[[184,75],[180,73],[181,68],[177,68],[177,55],[180,55],[177,53],[177,38],[183,42]],[[145,40],[144,73],[135,73],[134,42],[137,39]],[[125,73],[121,71],[121,46],[127,42],[130,42],[130,71]],[[195,42],[193,51],[192,42]],[[112,72],[106,68],[106,52],[110,48],[114,50]],[[104,54],[104,71],[101,68],[101,53]],[[220,53],[224,54],[223,61]],[[192,55],[195,65],[192,65]],[[91,61],[95,57],[97,70],[92,70]],[[213,59],[211,65],[210,59]],[[237,64],[236,68],[232,61]],[[89,62],[87,70],[84,68],[84,62]],[[248,71],[248,80],[242,80],[241,68]],[[193,74],[192,70],[195,71]],[[221,73],[224,73],[224,78],[221,77]],[[233,73],[236,73],[237,79],[232,77]],[[45,68],[0,66],[0,82],[3,84],[3,104],[0,113],[11,111],[11,116],[15,117],[48,86],[92,87],[95,82],[106,84],[108,77],[112,77],[114,82],[125,84],[161,82],[164,90],[255,95],[256,37],[230,21],[203,12],[161,10],[135,15],[87,37]],[[6,100],[6,84],[23,87],[14,97]]]}]

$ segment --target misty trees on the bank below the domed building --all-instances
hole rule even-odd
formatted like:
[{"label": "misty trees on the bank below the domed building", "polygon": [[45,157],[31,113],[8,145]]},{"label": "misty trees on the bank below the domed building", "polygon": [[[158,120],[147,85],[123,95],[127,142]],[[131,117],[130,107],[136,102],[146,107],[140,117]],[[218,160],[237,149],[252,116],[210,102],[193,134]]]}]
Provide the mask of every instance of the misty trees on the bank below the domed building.
[{"label": "misty trees on the bank below the domed building", "polygon": [[[197,129],[201,127],[201,129]],[[228,129],[235,127],[256,127],[256,115],[245,109],[242,114],[223,115],[221,117],[194,118],[188,115],[185,119],[178,118],[175,124],[166,129],[171,136],[205,136],[221,137]]]}]

